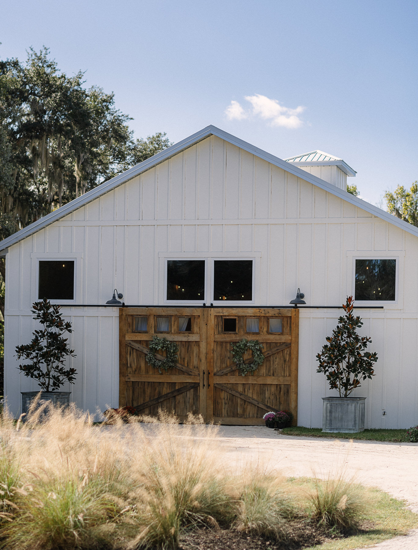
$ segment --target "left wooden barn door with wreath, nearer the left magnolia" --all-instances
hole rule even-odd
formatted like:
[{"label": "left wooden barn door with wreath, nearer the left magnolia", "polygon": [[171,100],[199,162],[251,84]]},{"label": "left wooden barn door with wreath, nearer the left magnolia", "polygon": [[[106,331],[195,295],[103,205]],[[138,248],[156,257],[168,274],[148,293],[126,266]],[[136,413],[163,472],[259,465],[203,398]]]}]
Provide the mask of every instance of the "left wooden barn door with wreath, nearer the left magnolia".
[{"label": "left wooden barn door with wreath, nearer the left magnolia", "polygon": [[[167,373],[158,372],[145,360],[153,335],[178,344],[177,366]],[[119,406],[134,406],[145,415],[155,416],[162,408],[174,411],[180,419],[189,412],[206,417],[205,358],[202,309],[120,308]]]}]

